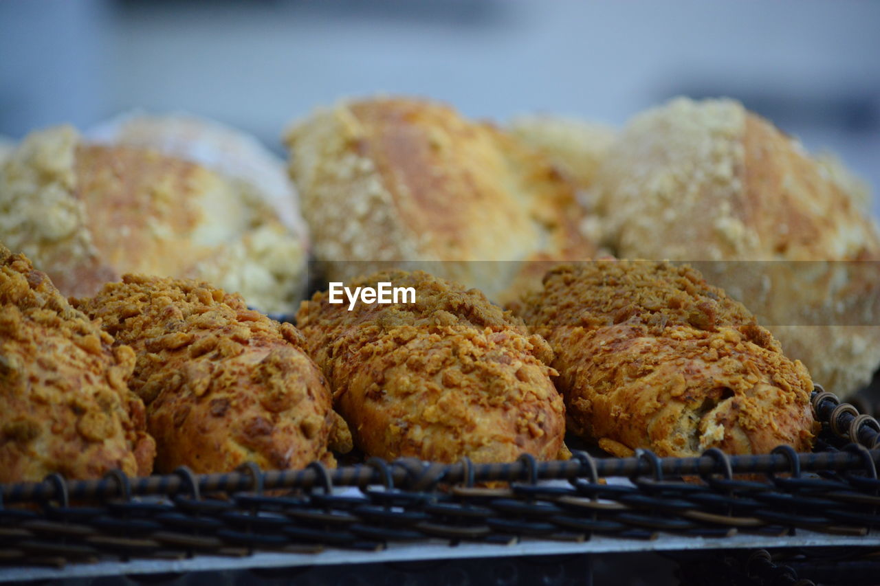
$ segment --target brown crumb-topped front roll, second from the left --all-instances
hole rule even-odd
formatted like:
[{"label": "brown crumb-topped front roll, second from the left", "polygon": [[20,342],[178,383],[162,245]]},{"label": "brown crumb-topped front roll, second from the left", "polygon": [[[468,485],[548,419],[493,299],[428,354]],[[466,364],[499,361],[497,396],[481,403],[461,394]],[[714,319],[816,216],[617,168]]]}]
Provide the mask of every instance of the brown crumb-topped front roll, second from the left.
[{"label": "brown crumb-topped front roll, second from the left", "polygon": [[[206,282],[124,275],[74,300],[137,355],[131,389],[146,404],[158,472],[334,464],[347,430],[303,338]],[[347,446],[350,448],[350,436]]]}]

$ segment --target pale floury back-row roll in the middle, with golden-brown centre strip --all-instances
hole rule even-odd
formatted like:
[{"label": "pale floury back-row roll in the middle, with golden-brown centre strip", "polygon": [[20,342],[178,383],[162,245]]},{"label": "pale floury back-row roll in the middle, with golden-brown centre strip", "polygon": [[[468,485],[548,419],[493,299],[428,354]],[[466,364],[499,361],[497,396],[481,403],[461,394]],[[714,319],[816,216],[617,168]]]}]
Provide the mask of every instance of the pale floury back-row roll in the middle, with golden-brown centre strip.
[{"label": "pale floury back-row roll in the middle, with golden-brown centre strip", "polygon": [[[290,174],[331,281],[370,261],[441,261],[437,276],[498,297],[521,260],[587,258],[575,189],[539,152],[419,99],[345,101],[287,134]],[[339,261],[359,261],[344,263]]]}]

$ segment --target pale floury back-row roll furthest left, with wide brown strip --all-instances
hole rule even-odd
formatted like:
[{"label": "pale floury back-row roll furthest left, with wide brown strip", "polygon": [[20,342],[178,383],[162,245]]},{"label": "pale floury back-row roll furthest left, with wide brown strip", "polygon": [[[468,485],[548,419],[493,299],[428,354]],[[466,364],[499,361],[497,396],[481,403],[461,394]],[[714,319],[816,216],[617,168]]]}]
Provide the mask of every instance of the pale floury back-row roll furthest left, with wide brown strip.
[{"label": "pale floury back-row roll furthest left, with wide brown strip", "polygon": [[33,133],[0,165],[0,238],[64,295],[138,272],[209,279],[290,311],[305,279],[304,241],[250,184],[70,127]]}]

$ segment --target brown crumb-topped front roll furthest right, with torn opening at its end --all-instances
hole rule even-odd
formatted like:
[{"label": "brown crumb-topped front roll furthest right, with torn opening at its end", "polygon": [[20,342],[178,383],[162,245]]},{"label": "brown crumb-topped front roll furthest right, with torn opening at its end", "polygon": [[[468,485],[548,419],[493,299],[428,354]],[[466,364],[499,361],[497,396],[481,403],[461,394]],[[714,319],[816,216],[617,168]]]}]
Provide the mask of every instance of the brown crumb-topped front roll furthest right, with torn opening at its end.
[{"label": "brown crumb-topped front roll furthest right, with torn opening at its end", "polygon": [[554,349],[573,429],[614,455],[810,448],[809,373],[691,267],[562,265],[516,309]]}]

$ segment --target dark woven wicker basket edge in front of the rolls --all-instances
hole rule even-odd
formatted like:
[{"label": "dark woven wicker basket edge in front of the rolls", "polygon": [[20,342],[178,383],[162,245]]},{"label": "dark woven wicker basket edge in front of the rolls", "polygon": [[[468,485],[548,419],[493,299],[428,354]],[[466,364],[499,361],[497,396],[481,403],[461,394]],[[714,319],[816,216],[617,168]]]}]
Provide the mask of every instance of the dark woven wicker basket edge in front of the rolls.
[{"label": "dark woven wicker basket edge in front of the rolls", "polygon": [[[812,407],[823,430],[810,453],[780,446],[757,456],[710,449],[697,458],[649,450],[594,458],[576,451],[570,460],[523,455],[506,464],[370,458],[297,471],[248,464],[147,478],[52,474],[0,485],[0,564],[63,568],[327,550],[369,559],[394,544],[568,543],[587,552],[603,539],[607,551],[607,538],[666,540],[678,550],[708,539],[724,549],[759,540],[785,546],[799,531],[814,536],[812,545],[843,538],[880,550],[880,425],[819,387]],[[751,567],[762,566],[752,560]]]}]

